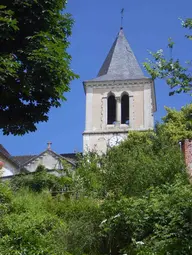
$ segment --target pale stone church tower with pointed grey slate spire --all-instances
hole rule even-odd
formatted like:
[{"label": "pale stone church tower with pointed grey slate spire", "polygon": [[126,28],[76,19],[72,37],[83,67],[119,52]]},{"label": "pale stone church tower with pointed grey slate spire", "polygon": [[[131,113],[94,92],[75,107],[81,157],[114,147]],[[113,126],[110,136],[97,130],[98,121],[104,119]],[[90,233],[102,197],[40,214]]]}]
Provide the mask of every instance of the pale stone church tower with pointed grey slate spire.
[{"label": "pale stone church tower with pointed grey slate spire", "polygon": [[97,77],[83,84],[84,152],[105,153],[108,147],[126,139],[130,130],[153,129],[154,83],[144,76],[122,28]]}]

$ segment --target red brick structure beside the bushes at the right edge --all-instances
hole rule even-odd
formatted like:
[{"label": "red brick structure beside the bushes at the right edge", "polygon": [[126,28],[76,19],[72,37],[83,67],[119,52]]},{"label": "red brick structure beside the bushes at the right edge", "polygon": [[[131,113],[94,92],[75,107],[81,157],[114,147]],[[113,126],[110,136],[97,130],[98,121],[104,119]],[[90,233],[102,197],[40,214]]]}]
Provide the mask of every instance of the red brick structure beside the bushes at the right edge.
[{"label": "red brick structure beside the bushes at the right edge", "polygon": [[189,171],[189,176],[192,177],[192,140],[184,140],[182,143],[182,151],[184,153],[185,163]]}]

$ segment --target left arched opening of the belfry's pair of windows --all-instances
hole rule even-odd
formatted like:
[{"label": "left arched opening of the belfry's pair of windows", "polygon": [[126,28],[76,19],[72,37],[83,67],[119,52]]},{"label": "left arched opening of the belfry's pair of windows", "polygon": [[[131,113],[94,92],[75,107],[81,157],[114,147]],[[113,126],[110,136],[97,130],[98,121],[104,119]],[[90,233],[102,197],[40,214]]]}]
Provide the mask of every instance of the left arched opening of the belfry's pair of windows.
[{"label": "left arched opening of the belfry's pair of windows", "polygon": [[113,94],[107,98],[107,124],[114,124],[116,121],[116,99]]}]

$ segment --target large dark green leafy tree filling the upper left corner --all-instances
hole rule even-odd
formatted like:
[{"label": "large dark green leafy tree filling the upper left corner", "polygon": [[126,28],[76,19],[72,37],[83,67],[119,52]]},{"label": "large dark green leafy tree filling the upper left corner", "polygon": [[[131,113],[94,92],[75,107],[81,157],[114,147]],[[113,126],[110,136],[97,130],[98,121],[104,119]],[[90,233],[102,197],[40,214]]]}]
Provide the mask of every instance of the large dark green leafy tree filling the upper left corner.
[{"label": "large dark green leafy tree filling the upper left corner", "polygon": [[66,0],[2,0],[0,129],[23,135],[48,120],[77,77],[67,53],[73,20]]}]

